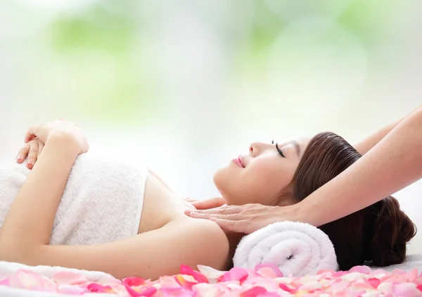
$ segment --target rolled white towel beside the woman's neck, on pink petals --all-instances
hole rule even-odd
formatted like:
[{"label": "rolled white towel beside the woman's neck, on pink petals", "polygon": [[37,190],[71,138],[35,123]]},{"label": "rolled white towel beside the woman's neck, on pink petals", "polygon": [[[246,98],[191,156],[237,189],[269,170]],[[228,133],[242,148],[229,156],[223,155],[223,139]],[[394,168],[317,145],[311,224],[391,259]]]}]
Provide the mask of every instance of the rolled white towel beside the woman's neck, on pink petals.
[{"label": "rolled white towel beside the woman's neck, on pink petals", "polygon": [[301,277],[319,270],[338,270],[334,246],[320,229],[301,222],[276,222],[241,240],[234,266],[273,264],[284,275]]}]

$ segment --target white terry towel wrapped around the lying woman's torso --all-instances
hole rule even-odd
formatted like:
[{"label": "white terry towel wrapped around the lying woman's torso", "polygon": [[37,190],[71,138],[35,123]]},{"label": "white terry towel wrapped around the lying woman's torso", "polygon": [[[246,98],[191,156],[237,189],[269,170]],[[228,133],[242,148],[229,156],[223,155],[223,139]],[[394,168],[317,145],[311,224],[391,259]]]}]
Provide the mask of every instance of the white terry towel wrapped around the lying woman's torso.
[{"label": "white terry towel wrapped around the lying woman's torso", "polygon": [[[25,164],[0,165],[0,227],[29,174]],[[50,244],[105,244],[138,234],[147,178],[146,166],[122,158],[79,156],[58,206]]]}]

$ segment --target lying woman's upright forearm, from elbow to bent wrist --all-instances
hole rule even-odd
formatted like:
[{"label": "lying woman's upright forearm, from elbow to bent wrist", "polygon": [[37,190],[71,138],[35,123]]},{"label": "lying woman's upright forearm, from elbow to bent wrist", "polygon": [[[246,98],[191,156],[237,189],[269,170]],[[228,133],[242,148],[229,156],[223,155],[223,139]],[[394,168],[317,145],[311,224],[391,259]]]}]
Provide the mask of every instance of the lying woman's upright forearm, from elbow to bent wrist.
[{"label": "lying woman's upright forearm, from elbow to bent wrist", "polygon": [[79,146],[66,137],[49,138],[1,228],[1,258],[10,249],[31,253],[32,246],[49,244],[58,203],[78,153]]}]

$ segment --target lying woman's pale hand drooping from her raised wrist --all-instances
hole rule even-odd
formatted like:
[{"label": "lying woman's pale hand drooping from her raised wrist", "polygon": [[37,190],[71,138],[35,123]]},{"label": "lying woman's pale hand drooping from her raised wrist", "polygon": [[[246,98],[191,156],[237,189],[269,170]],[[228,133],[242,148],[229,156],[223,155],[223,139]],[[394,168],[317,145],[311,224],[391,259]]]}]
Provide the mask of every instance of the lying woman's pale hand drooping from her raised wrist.
[{"label": "lying woman's pale hand drooping from her raised wrist", "polygon": [[87,139],[82,133],[82,129],[72,122],[65,120],[56,120],[47,122],[46,124],[30,127],[25,134],[25,143],[29,143],[32,139],[38,138],[44,144],[50,139],[65,139],[69,144],[75,144],[75,149],[80,155],[88,151],[89,145]]}]

